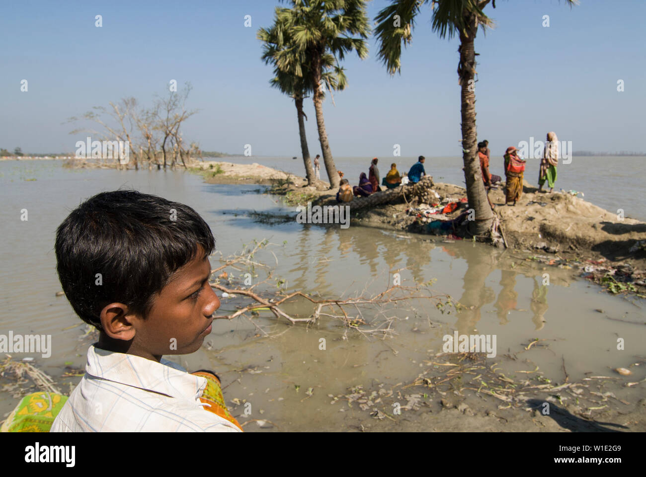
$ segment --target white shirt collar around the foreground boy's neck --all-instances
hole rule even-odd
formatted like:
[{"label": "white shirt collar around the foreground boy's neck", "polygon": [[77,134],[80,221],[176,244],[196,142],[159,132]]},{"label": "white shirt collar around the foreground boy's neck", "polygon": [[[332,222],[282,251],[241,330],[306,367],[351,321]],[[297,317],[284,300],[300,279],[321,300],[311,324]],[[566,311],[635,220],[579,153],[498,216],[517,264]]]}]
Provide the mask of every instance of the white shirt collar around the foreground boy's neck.
[{"label": "white shirt collar around the foreground boy's neck", "polygon": [[187,373],[182,366],[161,359],[161,363],[132,354],[96,348],[87,350],[85,372],[90,376],[115,383],[195,400],[202,396],[206,379]]}]

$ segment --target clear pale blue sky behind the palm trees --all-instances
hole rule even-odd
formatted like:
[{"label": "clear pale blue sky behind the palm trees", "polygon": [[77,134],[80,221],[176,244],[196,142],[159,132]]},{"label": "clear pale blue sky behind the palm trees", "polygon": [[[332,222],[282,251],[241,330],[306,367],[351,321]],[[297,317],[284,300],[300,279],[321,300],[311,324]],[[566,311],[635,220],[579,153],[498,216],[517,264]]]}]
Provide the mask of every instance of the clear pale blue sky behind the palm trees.
[{"label": "clear pale blue sky behind the palm trees", "polygon": [[[63,122],[125,96],[151,103],[169,81],[190,81],[185,140],[204,150],[300,156],[296,110],[269,87],[271,67],[256,39],[278,1],[5,1],[0,6],[0,147],[33,153],[74,151]],[[286,4],[284,4],[286,5]],[[387,5],[369,3],[374,19]],[[326,99],[335,156],[461,154],[457,39],[431,31],[430,6],[413,30],[401,75],[376,58],[346,59],[349,87]],[[497,27],[480,30],[477,129],[492,153],[556,131],[574,150],[645,151],[644,0],[498,0],[485,12]],[[102,28],[94,17],[103,16]],[[245,28],[244,16],[252,26]],[[544,28],[543,15],[550,16]],[[28,92],[21,92],[21,80]],[[625,90],[617,91],[623,79]],[[307,100],[310,152],[320,152]]]}]

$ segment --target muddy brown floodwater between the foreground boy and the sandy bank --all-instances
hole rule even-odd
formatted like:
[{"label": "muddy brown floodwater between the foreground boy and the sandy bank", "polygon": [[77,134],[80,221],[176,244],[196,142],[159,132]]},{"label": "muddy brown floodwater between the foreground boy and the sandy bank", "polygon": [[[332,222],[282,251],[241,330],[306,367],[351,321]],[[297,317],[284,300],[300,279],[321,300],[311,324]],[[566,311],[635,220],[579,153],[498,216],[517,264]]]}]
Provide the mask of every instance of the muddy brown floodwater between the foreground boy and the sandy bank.
[{"label": "muddy brown floodwater between the foreground boy and the sandy bank", "polygon": [[[324,228],[296,220],[258,223],[249,211],[288,212],[296,217],[295,209],[258,193],[260,186],[205,184],[199,176],[182,171],[74,171],[63,169],[59,162],[10,161],[0,162],[0,184],[0,334],[11,330],[52,335],[50,357],[25,354],[35,357],[35,363],[52,376],[60,376],[66,362],[83,367],[87,348],[79,341],[82,326],[65,329],[80,320],[65,297],[55,296],[61,290],[53,249],[55,229],[85,198],[120,187],[194,207],[211,226],[216,249],[224,257],[253,240],[267,238],[274,245],[257,253],[255,260],[274,268],[270,288],[280,277],[286,280],[287,291],[303,290],[326,298],[370,296],[386,290],[393,283],[393,273],[399,272],[402,285],[432,281],[433,293],[450,295],[467,307],[459,313],[441,313],[435,302],[420,299],[398,304],[397,310],[389,306],[362,310],[368,323],[393,317],[395,333],[387,339],[360,334],[326,317],[309,326],[291,326],[264,312],[253,321],[215,321],[201,350],[173,359],[189,369],[216,370],[227,402],[237,398],[252,405],[251,416],[240,416],[240,421],[265,419],[279,430],[344,430],[346,413],[339,412],[342,405],[330,404],[328,394],[336,396],[356,385],[410,383],[419,374],[422,360],[441,352],[443,336],[454,330],[496,335],[497,357],[488,358],[492,364],[503,354],[522,350],[532,339],[548,340],[549,349],[535,346],[523,357],[553,382],[562,382],[562,363],[571,381],[591,373],[618,376],[610,368],[627,367],[645,352],[645,302],[601,293],[598,286],[576,279],[574,270],[544,270],[540,264],[514,257],[513,251],[355,226]],[[636,201],[629,204],[643,208]],[[28,211],[26,221],[21,220],[23,209]],[[218,257],[211,258],[213,268],[219,264]],[[262,268],[256,268],[256,273],[258,280],[266,277]],[[550,275],[549,286],[542,286],[545,273]],[[232,312],[244,302],[240,298],[221,301],[218,313]],[[307,316],[313,308],[299,303],[289,312]],[[616,349],[618,337],[625,339],[625,350]],[[643,368],[633,366],[629,380],[646,377]],[[640,387],[615,392],[634,402],[634,396],[643,394]],[[308,388],[311,396],[306,394]],[[10,396],[0,393],[0,416],[14,405]],[[238,407],[234,415],[242,414],[242,409]],[[361,419],[372,418],[368,412],[355,414],[356,422]],[[384,426],[389,424],[384,421]]]}]

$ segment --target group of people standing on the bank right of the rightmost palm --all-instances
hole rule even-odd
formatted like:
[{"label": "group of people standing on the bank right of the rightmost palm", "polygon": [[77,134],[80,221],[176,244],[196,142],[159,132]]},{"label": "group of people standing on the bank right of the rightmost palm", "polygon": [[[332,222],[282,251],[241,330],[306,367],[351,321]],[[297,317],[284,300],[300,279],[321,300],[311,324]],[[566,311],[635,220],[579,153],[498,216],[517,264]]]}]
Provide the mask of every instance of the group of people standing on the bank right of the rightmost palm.
[{"label": "group of people standing on the bank right of the rightmost palm", "polygon": [[[543,158],[541,158],[541,167],[538,175],[538,191],[543,191],[545,182],[550,187],[550,193],[554,190],[554,182],[556,182],[556,166],[558,165],[559,145],[558,138],[554,131],[547,133],[547,142],[545,143],[545,150],[543,151]],[[480,167],[482,170],[483,182],[487,190],[495,188],[495,184],[501,181],[500,176],[493,175],[489,171],[489,142],[483,141],[478,143],[478,157],[480,159]],[[516,201],[521,198],[523,193],[523,176],[525,175],[526,160],[521,158],[518,154],[518,149],[510,146],[505,151],[505,205],[512,203],[516,205]]]}]

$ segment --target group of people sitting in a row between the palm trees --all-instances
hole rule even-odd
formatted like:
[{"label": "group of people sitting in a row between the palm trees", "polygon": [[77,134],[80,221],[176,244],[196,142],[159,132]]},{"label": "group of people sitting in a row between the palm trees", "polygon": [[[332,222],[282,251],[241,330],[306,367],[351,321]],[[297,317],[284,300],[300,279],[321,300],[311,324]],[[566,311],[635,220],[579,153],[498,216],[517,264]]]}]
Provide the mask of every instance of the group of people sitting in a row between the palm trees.
[{"label": "group of people sitting in a row between the palm trees", "polygon": [[[419,156],[417,162],[413,164],[413,167],[410,168],[408,174],[404,173],[402,176],[397,170],[397,164],[393,162],[390,165],[390,171],[384,178],[380,180],[381,176],[379,174],[379,168],[377,164],[379,163],[378,158],[373,158],[370,163],[370,169],[368,169],[368,175],[362,172],[359,175],[359,186],[351,187],[349,185],[348,179],[342,179],[339,187],[339,192],[337,192],[337,202],[349,202],[352,200],[353,196],[367,197],[375,192],[381,191],[379,183],[381,186],[386,187],[386,189],[394,189],[395,187],[401,186],[402,182],[419,182],[422,176],[426,175],[424,170],[424,156]],[[406,180],[404,180],[406,178]]]}]

